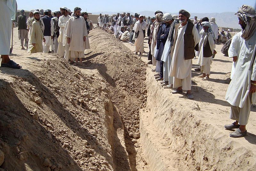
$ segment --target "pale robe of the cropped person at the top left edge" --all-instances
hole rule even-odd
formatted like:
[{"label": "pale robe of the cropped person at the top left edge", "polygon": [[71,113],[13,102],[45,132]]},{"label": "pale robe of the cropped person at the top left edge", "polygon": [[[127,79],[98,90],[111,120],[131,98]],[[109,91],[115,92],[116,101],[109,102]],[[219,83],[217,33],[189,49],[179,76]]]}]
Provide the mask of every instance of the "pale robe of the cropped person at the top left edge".
[{"label": "pale robe of the cropped person at the top left edge", "polygon": [[0,55],[10,54],[12,20],[15,20],[15,12],[15,0],[0,0]]}]

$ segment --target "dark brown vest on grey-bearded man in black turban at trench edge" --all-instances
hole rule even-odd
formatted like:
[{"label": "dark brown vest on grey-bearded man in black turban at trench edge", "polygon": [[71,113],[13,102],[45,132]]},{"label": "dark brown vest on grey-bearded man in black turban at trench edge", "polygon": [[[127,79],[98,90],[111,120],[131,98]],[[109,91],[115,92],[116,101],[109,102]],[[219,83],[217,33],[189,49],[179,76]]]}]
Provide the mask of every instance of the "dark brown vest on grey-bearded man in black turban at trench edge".
[{"label": "dark brown vest on grey-bearded man in black turban at trench edge", "polygon": [[193,59],[195,57],[195,42],[192,34],[194,24],[188,22],[187,28],[184,33],[184,58]]}]

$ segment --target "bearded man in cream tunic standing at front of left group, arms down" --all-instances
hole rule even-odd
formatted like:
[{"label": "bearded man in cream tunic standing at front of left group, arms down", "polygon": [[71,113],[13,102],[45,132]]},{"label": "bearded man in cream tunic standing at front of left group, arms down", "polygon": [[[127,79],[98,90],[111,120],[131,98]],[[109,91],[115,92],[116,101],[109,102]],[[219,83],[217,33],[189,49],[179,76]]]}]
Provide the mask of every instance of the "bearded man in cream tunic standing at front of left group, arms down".
[{"label": "bearded man in cream tunic standing at front of left group, arms down", "polygon": [[68,38],[69,51],[71,51],[71,58],[76,58],[76,65],[78,58],[80,65],[84,58],[84,50],[90,49],[89,38],[86,23],[83,17],[80,16],[81,8],[74,9],[74,17],[68,20],[66,37]]}]

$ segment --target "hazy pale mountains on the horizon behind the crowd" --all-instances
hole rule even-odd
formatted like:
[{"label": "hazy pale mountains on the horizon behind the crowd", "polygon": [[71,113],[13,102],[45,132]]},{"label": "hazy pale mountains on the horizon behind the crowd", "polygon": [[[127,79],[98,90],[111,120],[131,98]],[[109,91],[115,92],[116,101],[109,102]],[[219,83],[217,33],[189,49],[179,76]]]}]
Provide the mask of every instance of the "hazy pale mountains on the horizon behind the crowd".
[{"label": "hazy pale mountains on the horizon behind the crowd", "polygon": [[[126,11],[126,13],[129,11]],[[92,12],[92,14],[108,14],[108,15],[113,15],[116,14],[117,12]],[[119,13],[122,13],[119,12]],[[130,12],[132,15],[134,15],[135,12]],[[137,12],[138,14],[145,15],[146,17],[148,16],[155,16],[155,12],[153,11],[141,11]],[[166,13],[166,12],[164,12]],[[170,12],[172,15],[178,15],[178,12]],[[238,18],[234,15],[235,12],[222,12],[222,13],[190,13],[191,18],[194,18],[194,16],[197,16],[198,19],[203,18],[203,17],[208,17],[209,19],[211,17],[215,17],[216,19],[216,24],[219,27],[229,27],[229,28],[241,28],[240,25],[238,24]]]}]

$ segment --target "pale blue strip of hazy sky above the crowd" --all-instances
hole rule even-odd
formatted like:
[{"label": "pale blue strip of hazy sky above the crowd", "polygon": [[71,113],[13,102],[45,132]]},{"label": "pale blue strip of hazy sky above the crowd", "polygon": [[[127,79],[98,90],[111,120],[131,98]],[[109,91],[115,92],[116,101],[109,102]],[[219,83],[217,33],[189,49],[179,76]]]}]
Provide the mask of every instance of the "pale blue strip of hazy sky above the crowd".
[{"label": "pale blue strip of hazy sky above the crowd", "polygon": [[[74,11],[74,7],[82,8],[87,12],[103,11],[157,11],[179,12],[185,9],[190,13],[213,13],[213,12],[236,12],[237,8],[243,4],[255,6],[255,0],[146,0],[146,1],[118,1],[118,0],[90,0],[90,1],[73,1],[73,0],[16,0],[18,9],[51,9],[57,11],[60,7],[67,7]],[[124,2],[122,5],[120,2]],[[130,2],[130,4],[129,4]],[[174,3],[175,2],[175,3]],[[136,3],[134,5],[133,3]],[[116,4],[116,5],[115,5]]]}]

